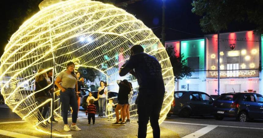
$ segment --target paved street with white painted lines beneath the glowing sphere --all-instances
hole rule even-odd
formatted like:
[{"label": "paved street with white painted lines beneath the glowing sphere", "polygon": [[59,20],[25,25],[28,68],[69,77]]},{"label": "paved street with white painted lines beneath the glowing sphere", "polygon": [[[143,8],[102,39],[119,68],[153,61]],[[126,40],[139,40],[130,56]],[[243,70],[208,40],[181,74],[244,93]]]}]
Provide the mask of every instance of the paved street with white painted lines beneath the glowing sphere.
[{"label": "paved street with white painted lines beneath the glowing sphere", "polygon": [[[70,120],[70,119],[69,119]],[[96,125],[87,125],[87,118],[84,111],[79,112],[78,125],[81,131],[65,132],[73,137],[100,137],[100,138],[135,138],[138,125],[135,120],[125,126],[113,126],[113,121],[105,118],[96,118]],[[54,124],[54,127],[63,131],[62,120]],[[192,117],[179,118],[171,116],[161,125],[161,137],[183,137],[183,138],[262,138],[263,120],[254,119],[249,122],[236,122],[234,118],[224,118],[222,121],[213,117]],[[0,105],[0,137],[50,137],[32,128],[19,116],[13,113],[6,105]],[[4,131],[3,131],[4,130]],[[10,133],[14,132],[14,133]],[[22,135],[24,134],[24,135]],[[148,134],[147,137],[153,137]]]}]

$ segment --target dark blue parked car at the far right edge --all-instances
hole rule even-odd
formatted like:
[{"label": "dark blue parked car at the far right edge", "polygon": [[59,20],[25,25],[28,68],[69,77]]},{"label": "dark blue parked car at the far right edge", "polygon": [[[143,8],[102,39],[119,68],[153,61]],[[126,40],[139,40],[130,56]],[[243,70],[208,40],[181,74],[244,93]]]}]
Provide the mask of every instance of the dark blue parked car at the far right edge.
[{"label": "dark blue parked car at the far right edge", "polygon": [[263,96],[257,93],[224,93],[213,106],[215,119],[235,117],[240,122],[249,118],[263,118]]}]

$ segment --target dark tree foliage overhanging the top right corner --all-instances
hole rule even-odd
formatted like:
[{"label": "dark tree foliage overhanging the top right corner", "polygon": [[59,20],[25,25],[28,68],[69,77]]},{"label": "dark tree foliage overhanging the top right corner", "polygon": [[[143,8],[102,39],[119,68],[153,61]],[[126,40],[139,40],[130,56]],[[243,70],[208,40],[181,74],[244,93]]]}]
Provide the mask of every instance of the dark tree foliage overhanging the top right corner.
[{"label": "dark tree foliage overhanging the top right corner", "polygon": [[228,28],[233,21],[248,20],[263,34],[262,0],[193,0],[192,13],[202,16],[200,26],[203,32],[220,31]]}]

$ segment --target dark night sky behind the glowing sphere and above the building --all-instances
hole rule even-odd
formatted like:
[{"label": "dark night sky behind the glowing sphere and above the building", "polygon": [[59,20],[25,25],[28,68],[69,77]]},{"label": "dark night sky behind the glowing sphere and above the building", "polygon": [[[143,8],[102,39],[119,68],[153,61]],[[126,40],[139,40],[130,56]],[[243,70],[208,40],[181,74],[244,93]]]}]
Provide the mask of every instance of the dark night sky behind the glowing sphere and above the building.
[{"label": "dark night sky behind the glowing sphere and above the building", "polygon": [[[119,0],[128,1],[128,0]],[[6,36],[8,20],[17,17],[17,8],[22,7],[22,14],[27,9],[26,0],[9,0],[2,1],[1,3],[1,14],[2,20],[1,24],[1,37],[0,37],[0,56],[4,51],[4,47],[8,43],[9,37]],[[187,33],[192,33],[196,35],[191,35],[179,31],[174,31],[166,28],[166,41],[169,40],[178,40],[178,39],[188,39],[188,38],[199,38],[204,35],[201,31],[199,25],[200,16],[195,15],[191,12],[192,0],[166,0],[166,10],[165,10],[165,25],[166,27],[180,30]],[[162,0],[142,0],[128,5],[127,7],[122,7],[126,9],[128,13],[135,15],[139,20],[142,20],[143,23],[149,27],[153,28],[154,34],[161,38],[161,23],[162,23]],[[24,13],[25,15],[25,13]],[[226,17],[227,18],[227,17]],[[21,23],[22,24],[22,23]],[[157,27],[157,28],[154,28]],[[249,22],[236,23],[233,22],[229,25],[228,30],[222,32],[232,32],[232,31],[244,31],[244,30],[253,30],[255,25]],[[214,32],[210,32],[212,34]],[[201,36],[200,36],[201,35]]]}]

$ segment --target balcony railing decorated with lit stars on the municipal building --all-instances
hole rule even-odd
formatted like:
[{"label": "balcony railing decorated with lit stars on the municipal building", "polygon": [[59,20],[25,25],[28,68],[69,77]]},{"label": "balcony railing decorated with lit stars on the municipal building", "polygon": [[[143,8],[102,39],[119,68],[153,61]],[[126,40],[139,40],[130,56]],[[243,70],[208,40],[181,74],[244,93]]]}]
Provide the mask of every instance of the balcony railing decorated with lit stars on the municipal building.
[{"label": "balcony railing decorated with lit stars on the municipal building", "polygon": [[[207,78],[217,78],[217,71],[207,71]],[[259,77],[258,69],[255,70],[223,70],[220,71],[220,78],[250,78]]]}]

